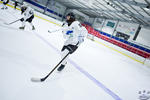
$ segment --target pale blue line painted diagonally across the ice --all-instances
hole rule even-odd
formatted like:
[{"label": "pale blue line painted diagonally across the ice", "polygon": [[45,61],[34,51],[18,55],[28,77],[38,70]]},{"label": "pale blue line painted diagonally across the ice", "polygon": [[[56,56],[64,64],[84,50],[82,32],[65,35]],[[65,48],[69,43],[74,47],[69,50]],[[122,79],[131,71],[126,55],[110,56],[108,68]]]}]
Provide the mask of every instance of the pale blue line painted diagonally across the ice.
[{"label": "pale blue line painted diagonally across the ice", "polygon": [[[54,49],[57,53],[61,54],[60,50],[58,50],[55,46],[53,46],[51,43],[49,43],[47,40],[45,40],[42,36],[40,36],[38,33],[34,32],[34,34],[40,38],[43,42],[45,42],[48,46],[50,46],[52,49]],[[82,74],[84,74],[88,79],[93,81],[98,87],[103,89],[107,94],[109,94],[111,97],[113,97],[115,100],[122,100],[118,95],[113,93],[110,89],[108,89],[106,86],[104,86],[101,82],[99,82],[96,78],[94,78],[92,75],[90,75],[88,72],[86,72],[84,69],[82,69],[78,64],[76,64],[73,60],[68,59],[68,61],[76,68],[78,69]]]}]

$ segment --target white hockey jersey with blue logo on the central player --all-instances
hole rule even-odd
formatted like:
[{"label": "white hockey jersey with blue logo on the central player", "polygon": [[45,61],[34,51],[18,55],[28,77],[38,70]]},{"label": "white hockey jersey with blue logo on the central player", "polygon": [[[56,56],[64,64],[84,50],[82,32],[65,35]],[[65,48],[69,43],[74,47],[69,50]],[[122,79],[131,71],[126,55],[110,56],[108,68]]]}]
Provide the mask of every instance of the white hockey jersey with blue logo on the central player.
[{"label": "white hockey jersey with blue logo on the central player", "polygon": [[[70,32],[67,34],[67,32]],[[79,21],[74,21],[70,26],[68,24],[63,25],[63,36],[66,39],[64,45],[72,44],[76,45],[79,42],[79,45],[84,41],[84,37],[87,35],[87,30],[83,27]]]}]

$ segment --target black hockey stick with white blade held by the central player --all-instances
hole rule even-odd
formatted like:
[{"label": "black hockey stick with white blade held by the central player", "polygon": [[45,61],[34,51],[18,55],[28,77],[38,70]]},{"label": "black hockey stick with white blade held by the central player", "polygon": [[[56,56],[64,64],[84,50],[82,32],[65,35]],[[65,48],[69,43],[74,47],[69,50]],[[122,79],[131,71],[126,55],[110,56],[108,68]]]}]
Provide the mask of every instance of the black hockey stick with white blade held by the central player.
[{"label": "black hockey stick with white blade held by the central player", "polygon": [[68,53],[51,71],[48,75],[46,75],[44,78],[31,78],[32,82],[43,82],[45,81],[51,74],[52,72],[62,63],[62,61],[69,55]]}]

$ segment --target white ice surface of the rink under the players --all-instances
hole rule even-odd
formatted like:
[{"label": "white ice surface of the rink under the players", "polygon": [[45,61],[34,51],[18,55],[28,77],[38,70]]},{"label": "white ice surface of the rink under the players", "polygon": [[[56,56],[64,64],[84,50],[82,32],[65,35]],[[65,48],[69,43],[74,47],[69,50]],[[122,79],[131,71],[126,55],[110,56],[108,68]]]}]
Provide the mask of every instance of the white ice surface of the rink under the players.
[{"label": "white ice surface of the rink under the players", "polygon": [[139,100],[139,91],[150,91],[148,67],[89,39],[62,72],[31,82],[57,65],[64,42],[61,31],[48,33],[61,27],[43,19],[54,19],[35,14],[36,30],[26,23],[23,31],[21,22],[4,24],[21,18],[20,11],[0,9],[0,100]]}]

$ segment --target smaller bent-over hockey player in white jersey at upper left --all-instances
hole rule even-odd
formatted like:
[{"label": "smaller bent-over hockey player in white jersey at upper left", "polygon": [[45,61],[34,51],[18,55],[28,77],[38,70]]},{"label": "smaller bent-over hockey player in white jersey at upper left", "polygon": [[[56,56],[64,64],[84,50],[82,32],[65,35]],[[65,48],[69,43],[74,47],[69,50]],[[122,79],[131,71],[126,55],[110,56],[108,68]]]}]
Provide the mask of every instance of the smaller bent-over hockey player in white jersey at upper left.
[{"label": "smaller bent-over hockey player in white jersey at upper left", "polygon": [[32,20],[34,18],[33,9],[31,7],[29,7],[27,4],[23,4],[21,6],[21,14],[24,17],[20,19],[20,21],[22,21],[22,26],[19,27],[19,29],[24,30],[24,28],[25,28],[25,22],[29,22],[31,24],[31,26],[32,26],[32,30],[35,30],[35,27],[32,24]]}]

